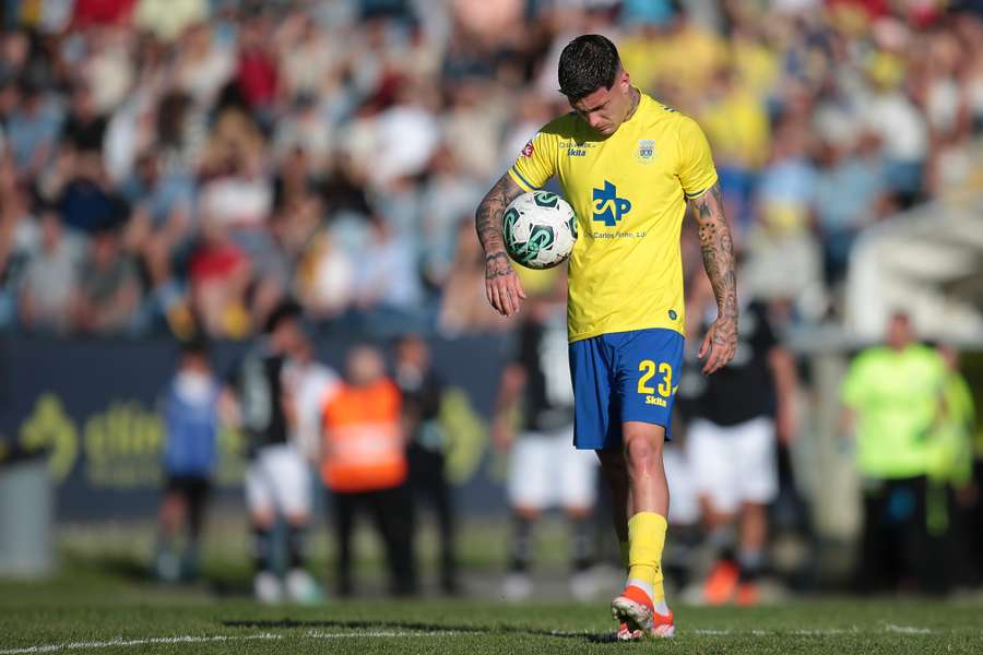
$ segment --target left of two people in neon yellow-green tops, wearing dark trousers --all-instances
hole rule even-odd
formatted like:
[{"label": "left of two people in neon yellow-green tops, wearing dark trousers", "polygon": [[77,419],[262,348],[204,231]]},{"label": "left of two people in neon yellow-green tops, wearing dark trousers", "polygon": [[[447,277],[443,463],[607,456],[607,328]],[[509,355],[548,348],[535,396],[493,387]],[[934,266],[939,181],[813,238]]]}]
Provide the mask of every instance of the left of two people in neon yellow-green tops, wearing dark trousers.
[{"label": "left of two people in neon yellow-green tops, wearing dark trousers", "polygon": [[856,584],[868,593],[943,593],[944,552],[928,531],[926,501],[949,370],[935,348],[916,342],[905,313],[891,315],[886,337],[854,358],[840,390],[863,478]]}]

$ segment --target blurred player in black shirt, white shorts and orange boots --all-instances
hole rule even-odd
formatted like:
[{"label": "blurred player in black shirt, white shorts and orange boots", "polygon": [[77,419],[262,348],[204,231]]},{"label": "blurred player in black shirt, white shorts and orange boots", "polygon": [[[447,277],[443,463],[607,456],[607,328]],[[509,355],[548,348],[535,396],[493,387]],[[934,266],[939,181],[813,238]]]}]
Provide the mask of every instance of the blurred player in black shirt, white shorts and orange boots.
[{"label": "blurred player in black shirt, white shorts and orange boots", "polygon": [[[712,299],[701,278],[691,301],[695,320],[712,322]],[[703,585],[709,604],[758,600],[767,508],[779,490],[777,439],[787,443],[794,432],[796,384],[794,359],[758,301],[741,312],[734,359],[714,376],[690,370],[680,384],[689,469],[719,557]]]}]

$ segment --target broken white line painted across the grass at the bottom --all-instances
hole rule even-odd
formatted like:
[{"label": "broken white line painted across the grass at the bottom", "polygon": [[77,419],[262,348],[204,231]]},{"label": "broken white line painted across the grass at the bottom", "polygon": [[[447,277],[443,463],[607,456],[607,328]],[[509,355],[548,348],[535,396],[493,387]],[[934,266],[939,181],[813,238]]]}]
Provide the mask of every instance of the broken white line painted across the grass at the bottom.
[{"label": "broken white line painted across the grass at the bottom", "polygon": [[[900,634],[933,634],[934,631],[928,628],[915,628],[912,626],[895,626],[888,623],[885,626],[886,632]],[[739,632],[734,630],[713,630],[700,628],[691,631],[691,634],[701,636],[836,636],[846,633],[860,633],[857,629],[842,630],[830,628],[826,630],[793,630],[791,632],[779,632],[773,630],[751,630],[749,632]],[[309,630],[303,636],[307,639],[386,639],[386,638],[441,638],[457,636],[461,634],[483,634],[484,631],[477,630],[433,630],[427,632],[410,632],[410,631],[372,631],[372,632],[320,632]],[[273,632],[260,632],[258,634],[213,634],[213,635],[196,635],[183,634],[177,636],[147,636],[143,639],[123,639],[117,638],[108,641],[88,641],[88,642],[67,642],[62,644],[46,644],[40,646],[24,646],[21,648],[7,648],[0,651],[0,655],[31,655],[32,653],[58,653],[61,651],[82,651],[90,648],[114,648],[128,646],[146,646],[155,644],[198,644],[198,643],[215,643],[215,642],[242,642],[257,640],[276,641],[289,636],[288,634],[280,634]]]}]

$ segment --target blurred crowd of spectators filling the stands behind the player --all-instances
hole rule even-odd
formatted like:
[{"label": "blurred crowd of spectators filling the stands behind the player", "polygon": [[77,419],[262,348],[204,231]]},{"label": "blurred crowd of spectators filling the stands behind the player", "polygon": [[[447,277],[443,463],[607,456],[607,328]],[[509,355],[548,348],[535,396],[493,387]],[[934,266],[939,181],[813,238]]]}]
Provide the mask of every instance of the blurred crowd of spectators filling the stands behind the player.
[{"label": "blurred crowd of spectators filling the stands behind the player", "polygon": [[857,234],[973,168],[980,12],[8,0],[0,325],[242,338],[292,296],[328,325],[502,329],[473,211],[568,110],[556,60],[585,32],[611,36],[636,84],[703,126],[750,288],[791,300],[791,320],[836,318]]}]

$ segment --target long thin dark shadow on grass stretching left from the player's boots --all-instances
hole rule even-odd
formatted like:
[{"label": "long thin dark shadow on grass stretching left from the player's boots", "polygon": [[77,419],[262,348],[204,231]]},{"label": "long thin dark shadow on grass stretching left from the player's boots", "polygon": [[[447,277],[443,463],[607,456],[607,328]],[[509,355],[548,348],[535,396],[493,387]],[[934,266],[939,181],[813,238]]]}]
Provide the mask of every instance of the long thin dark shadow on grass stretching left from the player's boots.
[{"label": "long thin dark shadow on grass stretching left from the player's boots", "polygon": [[288,630],[296,628],[336,628],[347,630],[406,630],[412,632],[448,632],[464,634],[530,634],[533,636],[554,636],[558,639],[581,640],[592,644],[618,643],[613,633],[593,633],[593,632],[564,632],[559,630],[538,630],[536,628],[525,628],[522,626],[448,626],[441,623],[424,623],[418,621],[332,621],[332,620],[315,620],[315,621],[296,621],[293,619],[282,619],[279,621],[259,621],[259,620],[224,620],[222,624],[227,628],[261,628],[264,630]]}]

